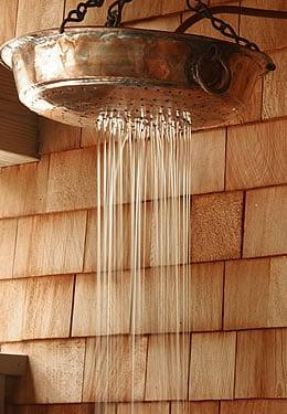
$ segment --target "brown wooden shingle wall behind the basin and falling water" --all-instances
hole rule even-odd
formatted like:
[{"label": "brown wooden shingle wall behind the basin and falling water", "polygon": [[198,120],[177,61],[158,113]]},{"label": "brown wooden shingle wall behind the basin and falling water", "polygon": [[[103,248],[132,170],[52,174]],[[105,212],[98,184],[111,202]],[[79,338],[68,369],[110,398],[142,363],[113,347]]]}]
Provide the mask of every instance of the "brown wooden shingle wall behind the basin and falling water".
[{"label": "brown wooden shingle wall behind the basin and falling water", "polygon": [[[183,0],[136,2],[124,17],[135,26],[173,30],[188,14]],[[2,3],[6,41],[57,26],[76,1]],[[284,0],[241,4],[286,9]],[[41,161],[0,169],[1,350],[30,358],[29,375],[10,390],[9,414],[287,412],[286,25],[230,19],[278,68],[258,82],[243,124],[193,136],[190,245],[179,267],[159,267],[150,189],[139,291],[128,248],[110,285],[99,279],[93,131],[41,119]],[[103,22],[103,11],[89,11],[87,24]],[[194,31],[212,34],[206,22]],[[174,275],[185,304],[177,312]]]}]

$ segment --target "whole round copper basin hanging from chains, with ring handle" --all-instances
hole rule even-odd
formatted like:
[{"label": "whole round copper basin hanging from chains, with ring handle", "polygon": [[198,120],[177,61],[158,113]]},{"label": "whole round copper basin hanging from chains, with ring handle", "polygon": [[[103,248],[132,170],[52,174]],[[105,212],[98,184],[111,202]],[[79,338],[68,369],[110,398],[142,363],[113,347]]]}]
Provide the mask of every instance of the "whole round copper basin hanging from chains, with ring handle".
[{"label": "whole round copper basin hanging from chains, with ring handle", "polygon": [[54,120],[93,127],[99,119],[184,118],[193,129],[240,117],[266,54],[193,34],[81,28],[6,43],[20,100]]}]

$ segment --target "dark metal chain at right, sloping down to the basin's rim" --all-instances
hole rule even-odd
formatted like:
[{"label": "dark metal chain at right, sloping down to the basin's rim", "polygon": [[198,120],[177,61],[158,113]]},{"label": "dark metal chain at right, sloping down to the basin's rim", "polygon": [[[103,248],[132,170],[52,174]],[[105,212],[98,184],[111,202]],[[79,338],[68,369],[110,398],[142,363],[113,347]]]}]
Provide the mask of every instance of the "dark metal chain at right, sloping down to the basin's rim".
[{"label": "dark metal chain at right, sloping down to the basin's rim", "polygon": [[201,0],[195,0],[194,7],[191,6],[190,0],[187,0],[187,6],[191,11],[209,19],[211,21],[212,26],[219,32],[221,32],[224,36],[233,39],[238,45],[242,44],[245,47],[259,52],[259,47],[257,46],[257,44],[252,43],[247,39],[240,36],[231,24],[226,23],[222,19],[215,18],[212,14],[210,8]]}]

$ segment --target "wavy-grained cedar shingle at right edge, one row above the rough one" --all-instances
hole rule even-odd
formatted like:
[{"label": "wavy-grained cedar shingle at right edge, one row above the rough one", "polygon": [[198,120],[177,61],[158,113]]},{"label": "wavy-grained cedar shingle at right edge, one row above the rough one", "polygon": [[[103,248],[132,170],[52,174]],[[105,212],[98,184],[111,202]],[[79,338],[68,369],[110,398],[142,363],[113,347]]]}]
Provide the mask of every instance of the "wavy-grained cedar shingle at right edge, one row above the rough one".
[{"label": "wavy-grained cedar shingle at right edge, one row above the rough one", "polygon": [[228,128],[227,190],[280,184],[287,180],[286,120]]}]

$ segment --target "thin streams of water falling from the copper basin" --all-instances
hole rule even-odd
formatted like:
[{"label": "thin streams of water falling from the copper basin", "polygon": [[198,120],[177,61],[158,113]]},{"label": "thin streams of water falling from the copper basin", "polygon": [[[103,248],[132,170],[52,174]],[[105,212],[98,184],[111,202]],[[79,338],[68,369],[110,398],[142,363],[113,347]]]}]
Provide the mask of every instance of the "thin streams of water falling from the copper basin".
[{"label": "thin streams of water falling from the copper basin", "polygon": [[[146,386],[144,395],[138,391],[139,376],[147,376],[139,372],[142,336],[149,341],[150,335],[172,333],[172,363],[183,375],[187,342],[181,333],[190,331],[190,267],[184,265],[191,227],[191,125],[188,114],[179,114],[176,120],[163,115],[134,121],[103,116],[97,127],[107,139],[97,147],[96,318],[104,358],[94,397],[134,403],[152,400],[152,390]],[[118,353],[117,343],[123,343],[116,339],[123,335],[128,346]],[[167,358],[159,352],[164,378]],[[181,384],[171,397],[182,400]]]}]

